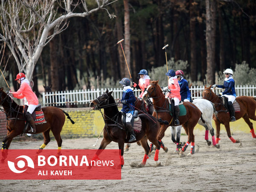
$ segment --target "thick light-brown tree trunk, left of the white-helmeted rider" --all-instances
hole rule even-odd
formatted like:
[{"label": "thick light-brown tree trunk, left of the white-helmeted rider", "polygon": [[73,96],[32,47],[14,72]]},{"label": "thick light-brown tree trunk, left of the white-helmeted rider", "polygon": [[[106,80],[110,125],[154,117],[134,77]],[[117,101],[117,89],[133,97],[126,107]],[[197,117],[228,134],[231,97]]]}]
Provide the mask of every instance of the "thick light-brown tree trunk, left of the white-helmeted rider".
[{"label": "thick light-brown tree trunk, left of the white-helmeted rider", "polygon": [[215,82],[216,1],[206,0],[207,84]]}]

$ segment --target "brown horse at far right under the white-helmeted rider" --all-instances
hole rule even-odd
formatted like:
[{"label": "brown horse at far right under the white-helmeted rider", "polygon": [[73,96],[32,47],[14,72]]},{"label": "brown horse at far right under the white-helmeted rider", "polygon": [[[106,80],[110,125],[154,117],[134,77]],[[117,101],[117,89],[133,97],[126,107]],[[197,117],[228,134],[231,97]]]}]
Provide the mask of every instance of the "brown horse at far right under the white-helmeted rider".
[{"label": "brown horse at far right under the white-helmeted rider", "polygon": [[[212,86],[206,87],[204,86],[204,91],[202,93],[203,99],[207,99],[215,105],[216,112],[213,116],[213,120],[216,125],[216,143],[220,140],[220,125],[221,123],[225,126],[227,131],[227,136],[233,143],[240,143],[239,140],[235,140],[230,133],[230,114],[227,112],[226,108],[223,105],[222,99],[217,96],[211,90]],[[241,117],[244,121],[249,125],[250,132],[252,133],[253,138],[256,138],[253,130],[253,123],[250,122],[250,119],[256,121],[255,110],[256,110],[256,101],[249,96],[239,96],[236,97],[236,102],[239,103],[240,112],[236,113],[236,120]]]}]

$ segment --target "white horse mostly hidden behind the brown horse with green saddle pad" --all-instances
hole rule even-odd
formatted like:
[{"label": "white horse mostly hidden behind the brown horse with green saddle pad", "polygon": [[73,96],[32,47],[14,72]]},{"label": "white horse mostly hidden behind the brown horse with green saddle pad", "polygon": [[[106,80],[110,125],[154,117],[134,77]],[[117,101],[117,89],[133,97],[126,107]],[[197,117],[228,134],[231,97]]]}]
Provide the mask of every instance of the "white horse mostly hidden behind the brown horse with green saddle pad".
[{"label": "white horse mostly hidden behind the brown horse with green saddle pad", "polygon": [[[202,118],[199,119],[198,124],[203,125],[205,127],[205,136],[204,139],[206,140],[208,145],[211,145],[211,142],[208,140],[208,133],[212,135],[212,145],[216,148],[220,148],[219,144],[216,144],[215,137],[214,137],[214,129],[212,127],[212,115],[215,111],[214,105],[212,102],[209,102],[207,99],[194,99],[193,104],[198,107],[198,109],[202,112]],[[177,147],[174,151],[175,153],[180,152],[180,148],[182,147],[182,143],[180,142],[180,133],[181,133],[182,125],[175,126],[175,128],[170,127],[172,131],[172,141],[176,143]],[[175,140],[176,134],[176,140]]]}]

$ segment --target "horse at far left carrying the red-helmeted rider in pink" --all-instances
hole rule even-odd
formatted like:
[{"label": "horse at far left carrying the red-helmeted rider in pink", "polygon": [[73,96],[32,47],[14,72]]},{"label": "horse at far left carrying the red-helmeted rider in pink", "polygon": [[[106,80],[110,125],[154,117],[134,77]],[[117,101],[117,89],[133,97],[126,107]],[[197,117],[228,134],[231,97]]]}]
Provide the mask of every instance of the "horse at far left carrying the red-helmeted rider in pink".
[{"label": "horse at far left carrying the red-helmeted rider in pink", "polygon": [[[8,149],[12,139],[20,134],[23,134],[25,128],[25,119],[23,117],[23,106],[17,105],[13,99],[3,91],[3,87],[0,88],[0,106],[1,109],[6,114],[7,119],[7,136],[3,139],[2,148]],[[74,124],[75,122],[70,118],[69,114],[65,111],[56,107],[44,107],[41,108],[44,112],[44,117],[46,123],[36,125],[36,133],[43,133],[44,143],[39,149],[45,148],[45,146],[50,142],[50,131],[52,131],[53,136],[58,144],[58,152],[61,150],[61,130],[65,122],[65,115]],[[25,131],[28,133],[28,130]],[[2,150],[3,159],[6,159],[8,151]]]}]

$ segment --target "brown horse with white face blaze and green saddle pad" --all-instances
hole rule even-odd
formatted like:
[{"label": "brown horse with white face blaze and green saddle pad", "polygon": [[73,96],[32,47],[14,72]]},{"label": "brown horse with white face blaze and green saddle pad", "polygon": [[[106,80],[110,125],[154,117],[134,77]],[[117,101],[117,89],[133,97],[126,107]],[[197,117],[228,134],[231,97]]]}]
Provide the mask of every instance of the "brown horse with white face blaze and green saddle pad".
[{"label": "brown horse with white face blaze and green saddle pad", "polygon": [[[158,81],[150,82],[147,90],[145,90],[143,94],[143,99],[146,99],[148,96],[153,99],[153,104],[155,108],[153,116],[160,121],[161,127],[160,132],[157,135],[157,140],[161,140],[164,137],[164,132],[166,131],[166,128],[168,128],[173,121],[173,116],[170,113],[171,111],[169,111],[169,102],[168,99],[165,98],[165,95],[163,94],[160,86],[158,85]],[[191,143],[190,154],[195,153],[195,136],[193,134],[193,130],[202,114],[201,111],[190,102],[183,102],[183,105],[186,108],[186,115],[179,116],[179,121],[180,125],[183,125],[183,128],[188,135],[188,141],[180,150],[181,157],[184,156],[183,152],[186,151],[189,143]]]}]

